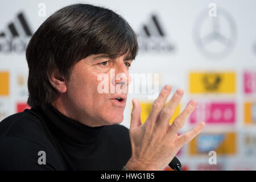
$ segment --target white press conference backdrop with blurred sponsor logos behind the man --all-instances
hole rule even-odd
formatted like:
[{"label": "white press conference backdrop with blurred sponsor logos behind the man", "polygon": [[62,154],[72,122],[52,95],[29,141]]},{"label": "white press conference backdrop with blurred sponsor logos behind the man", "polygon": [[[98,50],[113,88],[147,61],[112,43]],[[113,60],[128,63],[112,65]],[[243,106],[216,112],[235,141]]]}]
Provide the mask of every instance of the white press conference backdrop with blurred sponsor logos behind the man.
[{"label": "white press conference backdrop with blurred sponsor logos behind the man", "polygon": [[25,49],[31,35],[54,11],[77,2],[109,7],[138,36],[139,54],[130,73],[141,76],[142,84],[131,82],[134,90],[129,90],[121,125],[130,125],[132,98],[141,101],[144,122],[153,93],[171,84],[172,94],[177,88],[185,94],[170,123],[194,98],[199,105],[180,134],[200,121],[207,124],[203,133],[178,152],[183,169],[256,169],[254,0],[1,1],[0,121],[27,107]]}]

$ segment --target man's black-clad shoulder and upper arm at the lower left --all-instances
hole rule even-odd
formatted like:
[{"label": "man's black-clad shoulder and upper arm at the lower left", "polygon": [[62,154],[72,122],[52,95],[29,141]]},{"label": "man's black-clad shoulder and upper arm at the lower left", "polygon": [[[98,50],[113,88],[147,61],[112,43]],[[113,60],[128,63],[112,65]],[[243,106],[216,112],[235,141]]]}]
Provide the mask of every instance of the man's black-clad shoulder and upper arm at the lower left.
[{"label": "man's black-clad shoulder and upper arm at the lower left", "polygon": [[[47,165],[38,159],[46,153]],[[0,122],[0,169],[45,170],[61,169],[60,159],[36,114],[26,109]]]}]

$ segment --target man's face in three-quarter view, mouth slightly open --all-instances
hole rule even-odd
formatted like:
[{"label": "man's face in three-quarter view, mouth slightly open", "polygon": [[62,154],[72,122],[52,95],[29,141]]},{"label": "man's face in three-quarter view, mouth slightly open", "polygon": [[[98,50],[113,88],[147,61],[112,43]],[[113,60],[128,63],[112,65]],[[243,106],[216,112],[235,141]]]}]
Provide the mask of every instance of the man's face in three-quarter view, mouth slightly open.
[{"label": "man's face in three-quarter view, mouth slightly open", "polygon": [[[113,92],[113,88],[128,90],[130,65],[126,55],[116,59],[90,55],[75,64],[64,93],[68,117],[92,127],[121,123],[127,92]],[[117,75],[126,79],[117,79]]]}]

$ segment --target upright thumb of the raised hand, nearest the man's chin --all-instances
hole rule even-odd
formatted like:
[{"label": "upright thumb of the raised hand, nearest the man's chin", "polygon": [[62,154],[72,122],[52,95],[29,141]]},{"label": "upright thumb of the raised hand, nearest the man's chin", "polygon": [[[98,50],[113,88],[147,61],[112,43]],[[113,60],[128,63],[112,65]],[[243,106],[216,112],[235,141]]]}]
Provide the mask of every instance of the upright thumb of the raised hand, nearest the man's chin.
[{"label": "upright thumb of the raised hand, nearest the man's chin", "polygon": [[141,124],[141,105],[139,105],[139,101],[133,99],[130,129],[137,129]]}]

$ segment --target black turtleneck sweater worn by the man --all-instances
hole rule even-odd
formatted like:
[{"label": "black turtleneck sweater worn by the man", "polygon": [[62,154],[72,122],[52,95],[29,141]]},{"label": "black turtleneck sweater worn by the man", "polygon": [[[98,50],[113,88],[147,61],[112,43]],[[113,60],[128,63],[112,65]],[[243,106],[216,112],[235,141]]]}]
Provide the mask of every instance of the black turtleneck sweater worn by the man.
[{"label": "black turtleneck sweater worn by the man", "polygon": [[88,127],[52,105],[0,122],[0,170],[121,170],[130,156],[126,127]]}]

